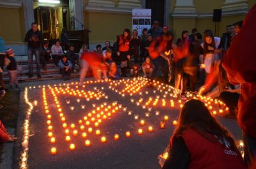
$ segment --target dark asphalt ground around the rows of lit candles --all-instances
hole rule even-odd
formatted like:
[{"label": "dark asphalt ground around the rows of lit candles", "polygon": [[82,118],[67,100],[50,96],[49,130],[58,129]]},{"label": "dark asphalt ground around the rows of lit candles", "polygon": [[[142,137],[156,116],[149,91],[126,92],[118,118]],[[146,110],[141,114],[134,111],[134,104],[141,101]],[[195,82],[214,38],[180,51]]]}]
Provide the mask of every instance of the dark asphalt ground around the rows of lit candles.
[{"label": "dark asphalt ground around the rows of lit candles", "polygon": [[[75,81],[74,79],[73,81]],[[48,83],[63,83],[63,81],[51,81],[51,82],[34,82],[34,83],[22,83],[22,86],[33,86],[33,85],[43,85]],[[153,89],[143,87],[140,91],[142,95],[136,93],[133,96],[125,95],[122,97],[115,91],[109,89],[109,83],[97,83],[92,85],[86,85],[85,91],[94,90],[94,87],[102,90],[102,92],[108,95],[108,99],[100,99],[91,101],[86,101],[84,98],[78,103],[76,102],[77,96],[68,96],[63,94],[57,94],[57,98],[60,101],[63,113],[66,116],[67,124],[74,123],[77,125],[78,136],[72,136],[72,143],[75,144],[76,149],[71,152],[69,150],[69,144],[65,142],[65,133],[62,129],[62,122],[60,120],[59,114],[57,113],[56,104],[53,100],[53,96],[50,90],[46,88],[46,98],[49,104],[49,110],[52,116],[53,123],[53,134],[56,138],[56,143],[51,144],[48,138],[48,130],[46,125],[46,115],[44,113],[43,99],[42,99],[42,88],[30,89],[29,99],[30,101],[38,100],[38,106],[34,107],[31,116],[31,131],[34,132],[34,136],[30,137],[29,153],[28,153],[28,165],[30,168],[160,168],[158,164],[158,155],[163,153],[166,146],[168,145],[168,140],[172,135],[174,126],[172,121],[178,118],[179,114],[179,104],[177,99],[174,100],[175,107],[171,108],[170,103],[166,102],[166,107],[161,107],[162,93],[158,90],[153,93]],[[101,89],[104,87],[104,89]],[[124,89],[124,84],[120,84],[116,89]],[[74,88],[74,86],[71,86]],[[74,88],[75,89],[75,88]],[[82,88],[79,88],[82,90]],[[148,94],[146,94],[148,91]],[[133,98],[136,101],[139,98],[143,98],[143,102],[146,102],[150,96],[153,100],[159,95],[159,104],[153,107],[152,112],[150,112],[149,117],[145,116],[148,112],[144,110],[142,106],[136,106],[135,102],[131,102],[130,99]],[[171,98],[166,98],[170,100]],[[71,104],[67,105],[66,100],[71,100]],[[122,104],[123,107],[127,107],[127,110],[133,112],[132,116],[124,112],[123,110],[118,111],[108,119],[102,119],[102,124],[98,127],[101,131],[101,136],[106,136],[107,142],[101,143],[101,136],[95,135],[95,130],[92,134],[88,134],[88,140],[91,141],[90,147],[84,146],[84,139],[81,134],[82,131],[79,130],[78,120],[82,119],[86,114],[91,112],[94,107],[92,104],[100,106],[103,102],[110,104],[113,101],[118,101],[118,104]],[[184,104],[184,102],[183,102]],[[74,106],[74,111],[70,110],[70,106]],[[80,105],[85,105],[85,109],[82,110]],[[214,107],[216,108],[216,107]],[[156,116],[155,111],[159,110],[160,115]],[[136,120],[134,114],[138,114],[139,118]],[[159,123],[163,120],[164,116],[167,115],[169,120],[166,122],[166,128],[160,129]],[[222,117],[217,117],[218,122],[224,125],[231,132],[236,140],[241,139],[241,130],[237,126],[236,120],[225,119]],[[146,121],[145,126],[139,125],[139,119],[144,119]],[[152,125],[154,131],[149,133],[147,127]],[[95,129],[95,127],[92,127]],[[143,135],[138,135],[137,130],[139,128],[143,129]],[[85,129],[87,130],[87,128]],[[131,137],[126,138],[125,132],[130,131]],[[87,131],[85,131],[87,132]],[[120,139],[114,141],[114,134],[119,134]],[[51,155],[51,147],[57,148],[57,154]]]}]

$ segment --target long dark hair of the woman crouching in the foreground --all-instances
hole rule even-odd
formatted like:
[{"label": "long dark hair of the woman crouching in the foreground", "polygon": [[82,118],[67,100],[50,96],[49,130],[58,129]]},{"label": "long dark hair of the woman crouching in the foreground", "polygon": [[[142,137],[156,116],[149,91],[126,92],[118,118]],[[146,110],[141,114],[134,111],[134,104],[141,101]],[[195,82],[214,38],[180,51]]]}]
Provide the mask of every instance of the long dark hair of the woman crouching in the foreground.
[{"label": "long dark hair of the woman crouching in the foreground", "polygon": [[[220,126],[212,117],[208,108],[200,100],[192,99],[186,102],[179,114],[179,121],[174,134],[182,136],[185,129],[194,129],[202,137],[212,142],[221,142],[225,146],[228,141],[232,150],[236,150],[236,144],[229,135],[228,130]],[[212,137],[212,136],[217,136]]]}]

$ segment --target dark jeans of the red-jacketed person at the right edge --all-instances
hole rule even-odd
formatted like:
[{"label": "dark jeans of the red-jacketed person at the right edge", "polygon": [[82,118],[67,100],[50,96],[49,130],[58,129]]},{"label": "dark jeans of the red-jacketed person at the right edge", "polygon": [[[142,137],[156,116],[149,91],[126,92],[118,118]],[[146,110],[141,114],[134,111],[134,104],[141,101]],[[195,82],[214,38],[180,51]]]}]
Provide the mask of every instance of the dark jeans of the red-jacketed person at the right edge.
[{"label": "dark jeans of the red-jacketed person at the right edge", "polygon": [[249,166],[253,163],[253,158],[256,155],[256,137],[249,136],[243,133],[243,143],[245,148],[245,162]]}]

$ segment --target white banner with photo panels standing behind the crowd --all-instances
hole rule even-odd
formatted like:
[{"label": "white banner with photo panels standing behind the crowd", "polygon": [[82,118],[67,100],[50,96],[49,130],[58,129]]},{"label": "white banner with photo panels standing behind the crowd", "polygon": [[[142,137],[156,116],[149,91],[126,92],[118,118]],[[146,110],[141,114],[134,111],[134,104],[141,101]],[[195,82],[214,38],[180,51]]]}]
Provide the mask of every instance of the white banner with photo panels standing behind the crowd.
[{"label": "white banner with photo panels standing behind the crowd", "polygon": [[132,9],[132,30],[137,29],[142,35],[144,28],[151,27],[151,9]]}]

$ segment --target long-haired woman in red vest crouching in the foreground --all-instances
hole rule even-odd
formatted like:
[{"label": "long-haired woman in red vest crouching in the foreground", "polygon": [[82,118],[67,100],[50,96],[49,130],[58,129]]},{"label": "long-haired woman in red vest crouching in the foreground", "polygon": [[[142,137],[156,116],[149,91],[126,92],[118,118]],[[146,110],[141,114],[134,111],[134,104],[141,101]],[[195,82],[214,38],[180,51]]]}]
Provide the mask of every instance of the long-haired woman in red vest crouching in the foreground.
[{"label": "long-haired woman in red vest crouching in the foreground", "polygon": [[[229,132],[200,100],[190,100],[182,108],[168,154],[163,168],[246,168]],[[163,164],[161,155],[159,159]]]}]

